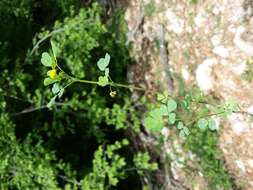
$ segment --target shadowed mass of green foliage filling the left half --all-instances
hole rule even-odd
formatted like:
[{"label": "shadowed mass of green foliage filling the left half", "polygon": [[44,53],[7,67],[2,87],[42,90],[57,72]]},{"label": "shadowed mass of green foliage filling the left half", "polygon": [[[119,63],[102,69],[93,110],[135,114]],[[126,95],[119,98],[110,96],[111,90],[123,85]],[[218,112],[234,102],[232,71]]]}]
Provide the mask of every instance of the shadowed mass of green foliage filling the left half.
[{"label": "shadowed mass of green foliage filling the left half", "polygon": [[[116,143],[105,148],[104,145],[118,134],[121,139],[122,131],[115,129],[133,127],[135,131],[140,130],[139,115],[129,98],[122,98],[120,90],[113,102],[109,93],[96,86],[80,85],[73,76],[86,77],[98,84],[101,71],[92,63],[105,52],[113,51],[112,56],[109,53],[105,56],[106,66],[101,65],[105,67],[104,77],[112,83],[107,67],[110,61],[110,65],[117,68],[114,78],[125,80],[124,72],[130,59],[121,32],[124,27],[115,32],[117,40],[108,37],[111,32],[107,32],[106,23],[102,23],[97,4],[79,11],[80,7],[69,6],[74,5],[71,1],[55,1],[49,9],[46,6],[49,1],[36,5],[28,0],[19,2],[4,1],[0,8],[0,16],[7,16],[15,6],[27,12],[24,17],[22,14],[8,17],[23,23],[11,20],[10,25],[1,28],[0,93],[4,96],[0,96],[0,189],[85,189],[85,185],[92,189],[93,185],[100,189],[117,188],[119,181],[137,174],[127,175],[122,170],[129,167],[129,161],[118,149],[126,146],[126,140],[121,141],[120,146]],[[34,7],[40,9],[41,6],[42,18],[36,20]],[[50,12],[55,9],[58,10]],[[56,15],[54,19],[52,14]],[[123,19],[119,15],[117,20],[120,21],[118,18]],[[32,27],[33,19],[37,27]],[[12,21],[20,23],[18,35],[14,33]],[[117,24],[123,26],[123,23],[112,21],[108,24],[116,29]],[[32,31],[26,32],[28,29]],[[112,31],[112,27],[109,30]],[[29,38],[20,34],[27,34]],[[31,51],[28,48],[32,44]],[[50,49],[49,45],[51,51],[46,50]],[[75,84],[71,85],[72,82]],[[112,92],[115,94],[115,90]],[[115,135],[108,137],[108,133]],[[128,156],[132,154],[128,151]],[[101,170],[106,171],[102,174]],[[82,179],[82,183],[77,179]]]}]

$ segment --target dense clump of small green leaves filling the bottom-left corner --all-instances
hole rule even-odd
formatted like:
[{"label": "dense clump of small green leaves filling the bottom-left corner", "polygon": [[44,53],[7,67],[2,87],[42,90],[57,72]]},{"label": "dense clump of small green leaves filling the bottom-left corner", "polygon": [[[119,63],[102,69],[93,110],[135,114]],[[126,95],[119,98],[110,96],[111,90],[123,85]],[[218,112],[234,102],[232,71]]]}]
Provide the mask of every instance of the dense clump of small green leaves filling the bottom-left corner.
[{"label": "dense clump of small green leaves filling the bottom-left corner", "polygon": [[0,189],[57,189],[54,154],[29,137],[19,142],[6,114],[0,114],[0,127]]}]

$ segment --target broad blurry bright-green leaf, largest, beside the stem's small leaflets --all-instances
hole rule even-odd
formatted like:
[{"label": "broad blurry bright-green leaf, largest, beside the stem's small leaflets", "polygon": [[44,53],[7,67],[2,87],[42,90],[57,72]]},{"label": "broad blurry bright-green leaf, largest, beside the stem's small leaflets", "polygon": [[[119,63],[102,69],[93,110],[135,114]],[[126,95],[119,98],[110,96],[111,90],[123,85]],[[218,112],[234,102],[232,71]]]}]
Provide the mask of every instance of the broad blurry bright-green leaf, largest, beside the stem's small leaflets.
[{"label": "broad blurry bright-green leaf, largest, beside the stem's small leaflets", "polygon": [[149,130],[157,132],[161,131],[164,127],[160,109],[151,110],[144,120],[145,127]]}]

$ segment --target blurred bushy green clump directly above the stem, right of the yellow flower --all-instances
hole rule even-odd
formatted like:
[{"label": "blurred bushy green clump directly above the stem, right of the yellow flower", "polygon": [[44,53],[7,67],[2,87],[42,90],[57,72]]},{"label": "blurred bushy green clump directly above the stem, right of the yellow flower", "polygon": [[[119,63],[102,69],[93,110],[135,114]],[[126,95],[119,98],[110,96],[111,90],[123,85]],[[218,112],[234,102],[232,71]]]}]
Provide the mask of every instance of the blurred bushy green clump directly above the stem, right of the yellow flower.
[{"label": "blurred bushy green clump directly above the stem, right of the yellow flower", "polygon": [[55,30],[61,31],[52,37],[58,57],[64,58],[71,74],[78,78],[84,78],[85,71],[90,70],[90,52],[99,46],[99,38],[106,32],[99,14],[100,8],[94,4],[92,9],[80,10],[75,17],[55,24]]}]

